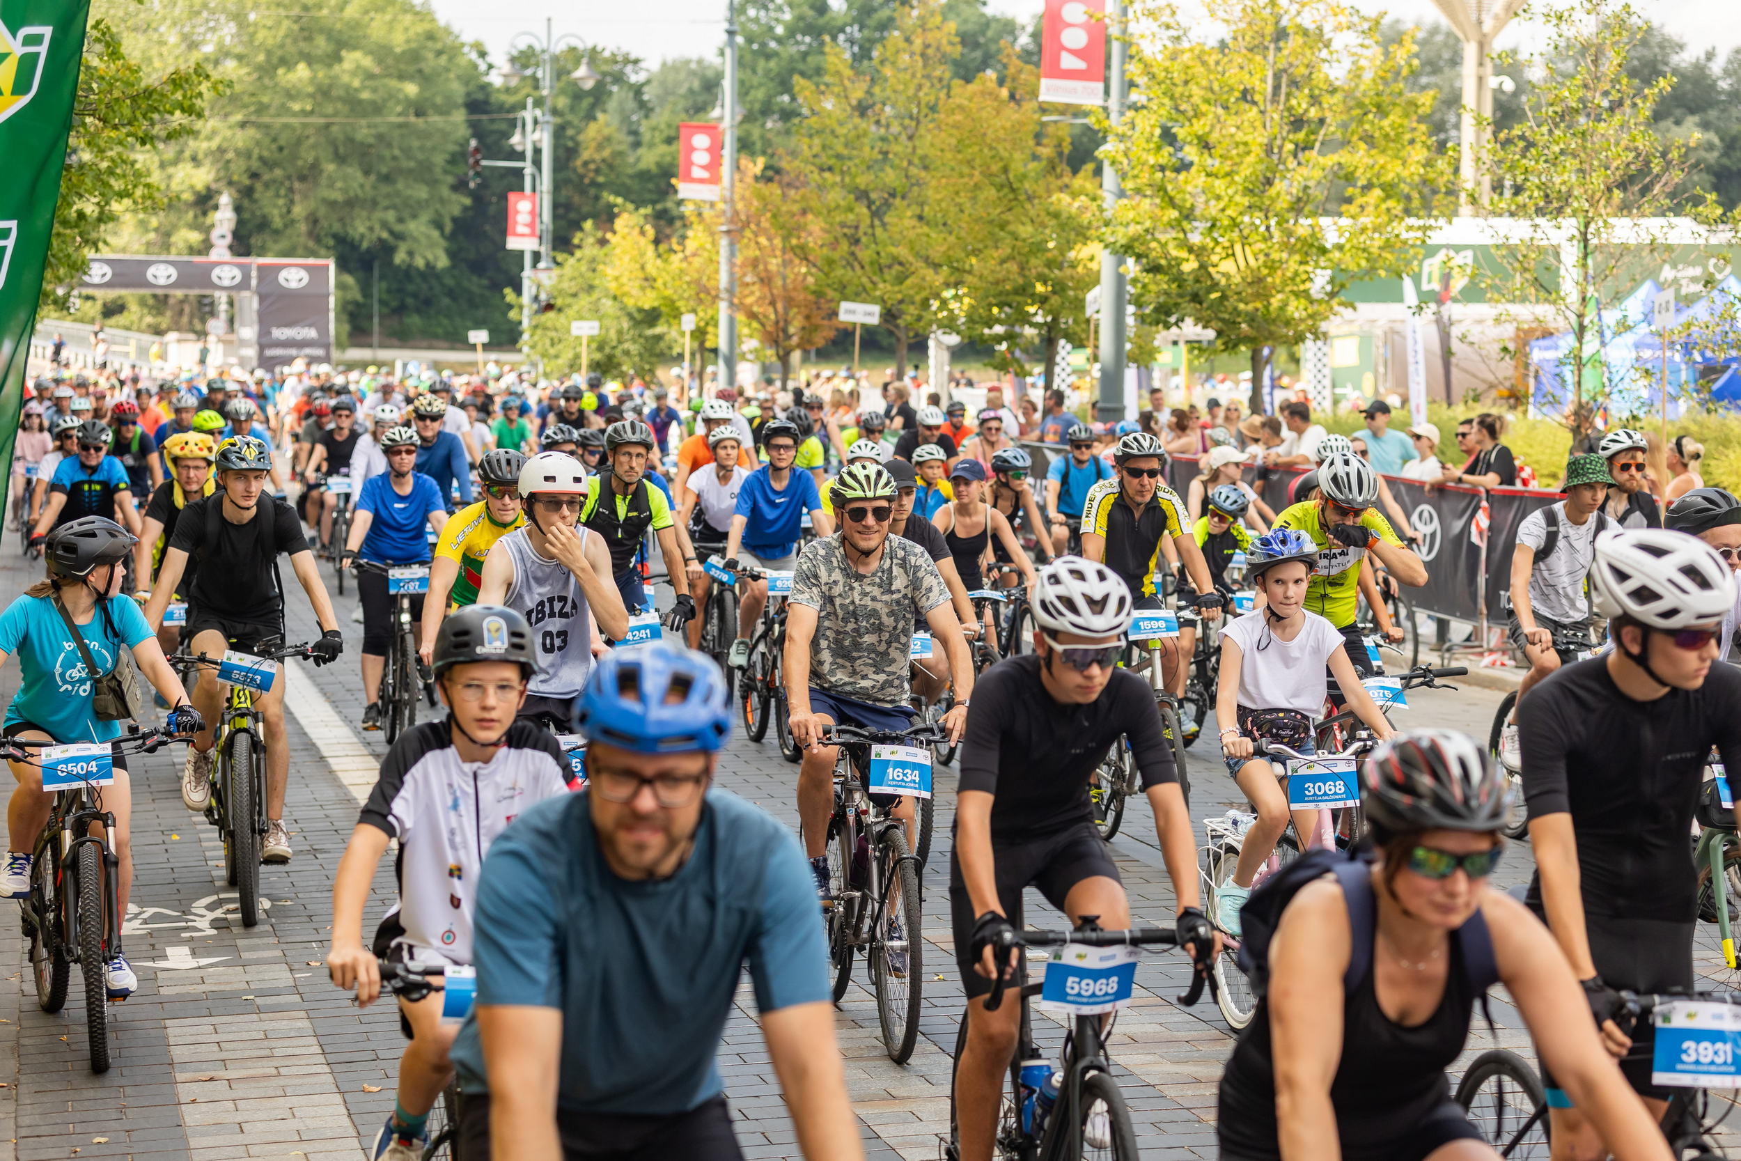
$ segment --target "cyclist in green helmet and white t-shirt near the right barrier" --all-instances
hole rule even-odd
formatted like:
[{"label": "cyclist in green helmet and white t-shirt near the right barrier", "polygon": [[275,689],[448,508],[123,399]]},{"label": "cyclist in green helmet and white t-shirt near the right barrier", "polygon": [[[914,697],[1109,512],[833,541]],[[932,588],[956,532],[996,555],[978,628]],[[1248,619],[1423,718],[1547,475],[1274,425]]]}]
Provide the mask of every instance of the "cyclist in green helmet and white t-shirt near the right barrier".
[{"label": "cyclist in green helmet and white t-shirt near the right barrier", "polygon": [[[1518,684],[1518,701],[1536,682],[1569,661],[1555,637],[1588,639],[1590,606],[1584,578],[1596,555],[1596,536],[1614,527],[1602,512],[1614,477],[1602,456],[1572,456],[1565,465],[1565,500],[1537,508],[1518,524],[1511,550],[1511,604],[1508,637],[1529,660]],[[1518,728],[1499,729],[1499,761],[1516,773]]]}]

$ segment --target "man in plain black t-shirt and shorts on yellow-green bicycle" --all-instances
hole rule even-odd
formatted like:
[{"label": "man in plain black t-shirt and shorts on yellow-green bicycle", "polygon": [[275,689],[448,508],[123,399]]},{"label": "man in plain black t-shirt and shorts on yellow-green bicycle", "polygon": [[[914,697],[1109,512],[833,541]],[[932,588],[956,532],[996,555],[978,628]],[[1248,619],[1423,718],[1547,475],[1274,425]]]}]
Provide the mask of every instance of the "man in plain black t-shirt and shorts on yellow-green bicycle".
[{"label": "man in plain black t-shirt and shorts on yellow-green bicycle", "polygon": [[[266,491],[272,449],[258,440],[228,440],[218,447],[218,489],[188,503],[176,520],[176,534],[157,569],[145,616],[153,630],[164,627],[164,609],[176,592],[188,601],[188,651],[219,658],[226,649],[251,653],[263,641],[284,637],[284,585],[279,580],[279,555],[291,559],[291,571],[308,594],[320,639],[313,642],[315,663],[338,658],[345,637],[333,614],[315,555],[308,550],[301,524],[289,503]],[[190,560],[195,571],[186,587]],[[284,735],[284,674],[254,700],[266,724],[266,841],[261,846],[268,863],[291,860],[291,834],[284,829],[284,792],[291,782],[291,747]],[[211,722],[188,747],[181,775],[181,802],[190,811],[211,804],[212,747],[218,724],[218,672],[198,670],[193,705]]]}]

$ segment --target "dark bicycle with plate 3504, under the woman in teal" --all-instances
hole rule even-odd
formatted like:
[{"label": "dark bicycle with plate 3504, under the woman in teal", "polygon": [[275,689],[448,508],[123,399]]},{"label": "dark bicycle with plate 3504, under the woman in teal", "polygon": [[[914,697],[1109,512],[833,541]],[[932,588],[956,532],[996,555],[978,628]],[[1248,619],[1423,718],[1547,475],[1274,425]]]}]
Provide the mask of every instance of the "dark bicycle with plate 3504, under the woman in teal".
[{"label": "dark bicycle with plate 3504, under the woman in teal", "polygon": [[[31,851],[30,896],[19,902],[19,917],[38,1008],[52,1015],[66,1006],[71,966],[78,964],[92,1072],[110,1067],[108,964],[122,954],[120,860],[108,844],[115,815],[103,809],[99,787],[115,782],[115,754],[151,754],[172,740],[167,729],[148,729],[85,745],[33,738],[0,742],[0,757],[10,762],[28,762],[30,752],[38,750],[44,790],[56,792],[49,822]],[[57,776],[50,778],[50,771]],[[91,834],[92,827],[101,827],[103,834]]]}]

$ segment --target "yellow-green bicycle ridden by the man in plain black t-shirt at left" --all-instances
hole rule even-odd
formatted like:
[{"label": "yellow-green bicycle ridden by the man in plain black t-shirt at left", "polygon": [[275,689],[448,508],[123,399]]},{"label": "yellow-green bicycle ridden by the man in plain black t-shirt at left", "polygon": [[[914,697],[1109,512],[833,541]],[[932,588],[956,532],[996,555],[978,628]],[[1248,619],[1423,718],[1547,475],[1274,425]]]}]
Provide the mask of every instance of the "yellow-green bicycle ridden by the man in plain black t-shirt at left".
[{"label": "yellow-green bicycle ridden by the man in plain black t-shirt at left", "polygon": [[277,674],[270,661],[312,658],[308,644],[284,646],[261,641],[254,653],[226,651],[221,658],[204,653],[169,658],[171,668],[218,670],[230,684],[230,700],[218,715],[212,797],[205,820],[223,836],[225,881],[237,889],[242,926],[259,923],[259,848],[266,836],[266,722],[254,708],[254,695],[272,689]]}]

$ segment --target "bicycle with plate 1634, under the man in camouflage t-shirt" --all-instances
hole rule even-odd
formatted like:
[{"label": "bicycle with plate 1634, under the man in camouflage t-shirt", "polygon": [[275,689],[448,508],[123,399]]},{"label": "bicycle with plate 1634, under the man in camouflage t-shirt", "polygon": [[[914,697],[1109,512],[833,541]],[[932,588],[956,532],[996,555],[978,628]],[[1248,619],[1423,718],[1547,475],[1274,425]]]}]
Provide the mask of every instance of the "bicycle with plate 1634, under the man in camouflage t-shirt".
[{"label": "bicycle with plate 1634, under the man in camouflage t-shirt", "polygon": [[[905,1064],[919,1039],[923,999],[923,947],[919,914],[919,858],[907,848],[907,829],[895,820],[893,801],[876,802],[872,794],[928,797],[928,755],[912,754],[938,740],[935,726],[909,729],[865,729],[830,726],[822,745],[839,747],[834,764],[834,809],[825,837],[829,849],[829,895],[823,912],[829,961],[834,964],[834,1001],[846,996],[853,954],[864,950],[877,999],[883,1048],[895,1064]],[[884,759],[874,747],[902,747],[909,754]],[[891,762],[891,768],[879,762]],[[874,790],[890,769],[904,790]]]}]

